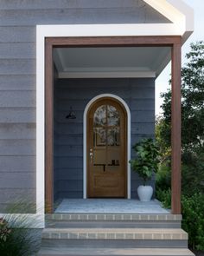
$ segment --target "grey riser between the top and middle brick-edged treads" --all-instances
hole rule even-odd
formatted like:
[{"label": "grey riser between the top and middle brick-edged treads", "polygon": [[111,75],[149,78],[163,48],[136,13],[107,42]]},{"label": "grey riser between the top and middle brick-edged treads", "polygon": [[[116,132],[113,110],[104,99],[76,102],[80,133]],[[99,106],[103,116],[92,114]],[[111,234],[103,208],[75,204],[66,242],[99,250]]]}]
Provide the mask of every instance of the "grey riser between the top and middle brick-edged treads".
[{"label": "grey riser between the top and middle brick-edged treads", "polygon": [[181,228],[181,221],[69,221],[69,220],[47,220],[47,227],[109,227],[109,228]]}]

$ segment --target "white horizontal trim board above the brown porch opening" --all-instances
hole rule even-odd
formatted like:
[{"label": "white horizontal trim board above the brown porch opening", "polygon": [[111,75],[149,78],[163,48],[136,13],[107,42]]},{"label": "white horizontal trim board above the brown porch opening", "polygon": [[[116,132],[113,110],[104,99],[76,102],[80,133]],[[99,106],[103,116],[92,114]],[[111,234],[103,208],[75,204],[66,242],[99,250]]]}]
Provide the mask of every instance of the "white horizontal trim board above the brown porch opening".
[{"label": "white horizontal trim board above the brown porch opening", "polygon": [[175,23],[37,25],[37,36],[182,36]]}]

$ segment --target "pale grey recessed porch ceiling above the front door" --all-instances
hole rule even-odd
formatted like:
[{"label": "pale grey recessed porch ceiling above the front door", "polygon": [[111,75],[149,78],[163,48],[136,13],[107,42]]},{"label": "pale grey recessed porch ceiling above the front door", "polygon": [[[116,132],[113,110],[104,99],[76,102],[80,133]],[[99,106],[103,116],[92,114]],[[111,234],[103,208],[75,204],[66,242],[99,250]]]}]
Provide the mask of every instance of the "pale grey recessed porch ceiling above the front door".
[{"label": "pale grey recessed porch ceiling above the front door", "polygon": [[59,78],[156,77],[168,64],[170,47],[56,48]]}]

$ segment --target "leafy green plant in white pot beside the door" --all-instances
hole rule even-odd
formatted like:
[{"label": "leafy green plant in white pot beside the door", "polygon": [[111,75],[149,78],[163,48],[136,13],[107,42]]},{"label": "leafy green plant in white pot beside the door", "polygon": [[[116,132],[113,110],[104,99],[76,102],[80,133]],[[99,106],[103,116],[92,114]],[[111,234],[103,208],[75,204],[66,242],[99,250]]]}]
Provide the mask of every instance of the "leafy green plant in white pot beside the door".
[{"label": "leafy green plant in white pot beside the door", "polygon": [[143,180],[143,185],[137,188],[137,194],[141,201],[150,201],[153,188],[147,186],[147,181],[150,181],[152,175],[157,172],[159,149],[151,138],[137,142],[133,149],[136,152],[136,158],[130,161],[131,168]]}]

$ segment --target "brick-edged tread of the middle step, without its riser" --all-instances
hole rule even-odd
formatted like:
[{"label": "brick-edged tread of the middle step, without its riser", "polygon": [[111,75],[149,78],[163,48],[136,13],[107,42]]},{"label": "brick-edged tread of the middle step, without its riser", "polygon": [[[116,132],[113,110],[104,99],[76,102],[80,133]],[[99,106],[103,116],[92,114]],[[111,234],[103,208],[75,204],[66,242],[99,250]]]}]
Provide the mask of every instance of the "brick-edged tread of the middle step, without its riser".
[{"label": "brick-edged tread of the middle step, without its riser", "polygon": [[45,228],[43,239],[188,240],[181,228]]}]

